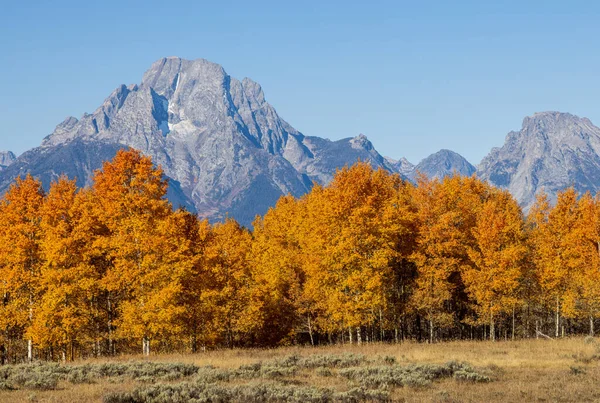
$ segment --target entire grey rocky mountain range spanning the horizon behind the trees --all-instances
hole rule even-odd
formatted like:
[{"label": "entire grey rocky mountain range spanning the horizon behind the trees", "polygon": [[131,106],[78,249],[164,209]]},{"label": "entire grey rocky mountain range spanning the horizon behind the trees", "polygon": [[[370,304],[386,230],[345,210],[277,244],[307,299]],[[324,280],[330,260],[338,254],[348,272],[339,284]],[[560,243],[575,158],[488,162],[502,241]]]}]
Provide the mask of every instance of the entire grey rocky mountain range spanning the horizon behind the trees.
[{"label": "entire grey rocky mountain range spanning the horizon behind the trees", "polygon": [[277,114],[258,83],[239,81],[204,59],[168,57],[152,64],[140,84],[117,87],[93,113],[65,119],[39,147],[18,158],[0,152],[0,194],[26,173],[46,188],[61,174],[88,186],[94,170],[123,147],[163,167],[176,207],[244,225],[282,195],[299,197],[358,160],[410,180],[417,172],[431,178],[476,173],[511,191],[525,209],[542,189],[551,198],[571,185],[600,190],[600,129],[586,118],[526,117],[477,168],[450,150],[413,165],[384,158],[362,134],[337,141],[305,136]]}]

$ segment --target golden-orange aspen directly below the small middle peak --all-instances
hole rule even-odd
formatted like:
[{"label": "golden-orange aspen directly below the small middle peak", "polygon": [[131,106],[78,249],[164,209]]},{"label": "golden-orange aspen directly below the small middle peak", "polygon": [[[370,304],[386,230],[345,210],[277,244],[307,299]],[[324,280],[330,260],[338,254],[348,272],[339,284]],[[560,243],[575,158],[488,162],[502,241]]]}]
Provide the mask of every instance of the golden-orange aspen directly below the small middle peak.
[{"label": "golden-orange aspen directly below the small middle peak", "polygon": [[474,176],[417,180],[418,236],[412,259],[418,273],[412,305],[428,321],[430,342],[436,339],[436,329],[465,320],[469,303],[462,269],[471,262],[472,230],[489,193],[489,186]]}]

